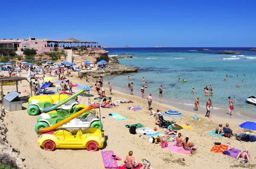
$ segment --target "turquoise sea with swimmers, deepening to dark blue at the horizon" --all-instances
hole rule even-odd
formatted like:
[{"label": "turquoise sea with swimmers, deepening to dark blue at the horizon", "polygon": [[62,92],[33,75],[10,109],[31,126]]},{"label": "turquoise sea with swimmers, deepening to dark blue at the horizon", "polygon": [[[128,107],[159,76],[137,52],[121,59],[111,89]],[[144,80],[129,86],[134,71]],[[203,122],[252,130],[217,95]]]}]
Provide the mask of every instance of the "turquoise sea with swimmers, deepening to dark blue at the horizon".
[{"label": "turquoise sea with swimmers, deepening to dark blue at the horizon", "polygon": [[[153,99],[170,100],[184,105],[194,105],[200,96],[200,105],[205,107],[209,97],[215,109],[229,111],[228,96],[235,96],[234,113],[256,118],[256,106],[246,98],[256,96],[256,51],[251,48],[105,48],[108,55],[132,55],[134,58],[119,59],[120,64],[139,68],[136,73],[105,76],[105,82],[128,93],[128,82],[134,83],[134,94],[141,96],[142,79],[148,82],[145,97],[152,93]],[[241,50],[241,54],[218,54],[218,51]],[[225,58],[226,57],[226,58]],[[186,59],[187,58],[187,59]],[[245,76],[244,76],[245,74]],[[224,82],[224,78],[227,81]],[[231,75],[231,77],[230,77]],[[238,77],[236,76],[238,75]],[[128,81],[130,76],[130,81]],[[178,82],[178,78],[187,82]],[[244,82],[242,82],[244,79]],[[239,84],[240,87],[236,87]],[[163,97],[158,88],[163,85]],[[212,85],[213,95],[204,96],[204,87]],[[191,90],[195,88],[195,93]]]}]

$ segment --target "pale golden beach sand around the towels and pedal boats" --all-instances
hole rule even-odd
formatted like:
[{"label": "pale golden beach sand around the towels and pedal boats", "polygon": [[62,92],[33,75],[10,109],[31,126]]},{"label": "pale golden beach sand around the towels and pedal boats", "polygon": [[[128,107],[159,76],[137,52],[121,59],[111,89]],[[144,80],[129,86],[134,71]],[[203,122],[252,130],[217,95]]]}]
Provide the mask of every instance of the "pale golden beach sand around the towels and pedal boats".
[{"label": "pale golden beach sand around the towels and pedal boats", "polygon": [[[6,73],[6,72],[2,72]],[[8,73],[8,72],[7,72]],[[77,72],[73,72],[73,77],[69,78],[73,84],[77,83],[79,85],[90,85],[90,82],[86,82],[85,79],[80,80],[77,78]],[[21,73],[21,76],[26,77],[26,71]],[[38,75],[39,77],[42,75]],[[96,80],[96,79],[94,79]],[[54,78],[52,82],[57,81],[57,78]],[[28,82],[23,81],[19,84],[19,90],[28,90],[30,92]],[[8,91],[15,90],[16,86],[3,86],[4,94],[7,94]],[[49,88],[49,90],[55,90],[55,88]],[[76,89],[76,87],[73,87]],[[106,96],[110,96],[108,85],[105,85]],[[91,94],[94,97],[98,97],[96,92],[91,91]],[[178,132],[181,132],[182,137],[188,135],[189,139],[198,146],[198,153],[195,155],[183,155],[179,153],[172,152],[168,149],[162,149],[161,146],[157,144],[151,144],[148,141],[148,138],[145,135],[139,137],[140,133],[132,135],[129,133],[128,128],[125,127],[126,124],[136,124],[141,123],[145,127],[153,129],[157,127],[155,125],[155,118],[151,117],[146,113],[148,111],[148,103],[146,99],[141,99],[137,96],[131,96],[117,90],[113,90],[114,95],[111,95],[112,100],[120,99],[131,99],[134,103],[127,104],[118,104],[119,107],[115,108],[101,108],[101,117],[105,117],[105,120],[102,120],[104,134],[107,138],[107,146],[103,147],[103,150],[113,150],[113,152],[122,158],[122,161],[117,161],[119,165],[123,163],[123,159],[130,150],[133,151],[133,157],[137,161],[146,158],[151,162],[151,167],[154,169],[169,169],[169,168],[187,168],[187,169],[198,169],[198,168],[240,168],[248,167],[255,168],[256,160],[253,156],[250,164],[242,165],[239,161],[236,161],[235,158],[225,156],[218,153],[210,152],[213,142],[221,142],[221,144],[228,145],[229,148],[234,147],[236,149],[244,150],[248,148],[249,151],[256,152],[256,144],[251,142],[240,142],[235,140],[235,137],[230,138],[215,138],[210,135],[207,135],[208,132],[215,130],[215,127],[218,124],[226,123],[230,124],[230,127],[233,129],[233,133],[241,133],[241,128],[239,124],[243,123],[244,120],[239,119],[229,119],[221,118],[214,115],[214,112],[218,110],[212,110],[212,118],[205,118],[204,115],[198,114],[199,120],[194,120],[193,112],[183,111],[175,108],[175,105],[166,105],[154,102],[154,97],[152,96],[153,110],[159,108],[160,110],[177,110],[184,115],[183,118],[175,118],[179,125],[189,124],[192,127],[192,130],[182,129]],[[23,99],[28,99],[29,95],[20,94],[20,97]],[[24,98],[25,97],[25,98]],[[93,97],[93,98],[94,98]],[[145,96],[146,97],[146,96]],[[85,100],[84,100],[85,99]],[[87,97],[79,96],[81,104],[88,105]],[[91,98],[91,104],[94,103]],[[49,152],[45,151],[38,145],[37,139],[38,135],[35,133],[34,127],[36,120],[39,115],[30,116],[27,113],[28,103],[23,103],[22,111],[13,111],[6,113],[4,122],[8,128],[7,139],[9,144],[13,147],[20,150],[20,158],[25,158],[24,163],[28,168],[31,169],[104,169],[101,150],[97,152],[88,152],[86,149],[55,149],[55,151]],[[127,107],[141,107],[142,110],[132,111],[127,110]],[[127,119],[117,121],[114,118],[108,116],[108,113],[119,113],[120,115],[126,117]],[[172,118],[164,117],[165,120],[172,121]],[[157,127],[158,129],[158,127]],[[158,129],[159,132],[164,133],[166,129]],[[227,144],[230,143],[231,145]],[[172,144],[172,142],[170,143]],[[169,145],[170,145],[169,144]]]}]

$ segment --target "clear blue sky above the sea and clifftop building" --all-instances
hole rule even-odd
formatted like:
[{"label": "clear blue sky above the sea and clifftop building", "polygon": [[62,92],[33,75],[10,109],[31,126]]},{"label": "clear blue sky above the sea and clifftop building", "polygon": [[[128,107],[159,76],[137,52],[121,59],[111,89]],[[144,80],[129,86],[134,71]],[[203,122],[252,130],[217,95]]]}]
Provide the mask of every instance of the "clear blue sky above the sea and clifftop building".
[{"label": "clear blue sky above the sea and clifftop building", "polygon": [[255,47],[255,0],[3,0],[0,39],[123,47]]}]

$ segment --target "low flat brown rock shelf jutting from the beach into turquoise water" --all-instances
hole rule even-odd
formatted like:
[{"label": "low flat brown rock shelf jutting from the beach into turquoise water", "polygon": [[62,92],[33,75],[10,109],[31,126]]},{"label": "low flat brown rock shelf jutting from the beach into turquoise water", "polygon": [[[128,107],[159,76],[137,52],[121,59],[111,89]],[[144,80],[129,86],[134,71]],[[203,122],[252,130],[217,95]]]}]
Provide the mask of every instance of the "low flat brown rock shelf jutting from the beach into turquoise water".
[{"label": "low flat brown rock shelf jutting from the beach into turquoise water", "polygon": [[102,74],[105,75],[118,75],[118,74],[123,74],[123,73],[130,73],[130,72],[136,72],[138,71],[138,68],[133,68],[125,65],[119,65],[119,64],[109,64],[110,68],[106,68],[104,70],[92,70],[92,71],[81,71],[81,75],[89,75],[89,76],[94,76],[98,77]]}]

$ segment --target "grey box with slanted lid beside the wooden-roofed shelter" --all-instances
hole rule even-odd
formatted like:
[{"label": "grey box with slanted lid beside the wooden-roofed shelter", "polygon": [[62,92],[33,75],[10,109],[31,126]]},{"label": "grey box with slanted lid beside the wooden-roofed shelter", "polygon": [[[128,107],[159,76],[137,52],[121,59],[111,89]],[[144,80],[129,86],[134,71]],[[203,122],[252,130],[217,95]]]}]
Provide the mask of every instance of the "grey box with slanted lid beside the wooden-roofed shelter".
[{"label": "grey box with slanted lid beside the wooden-roofed shelter", "polygon": [[22,101],[17,97],[20,93],[12,90],[6,96],[3,97],[3,107],[8,111],[22,110]]}]

